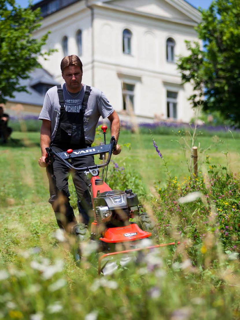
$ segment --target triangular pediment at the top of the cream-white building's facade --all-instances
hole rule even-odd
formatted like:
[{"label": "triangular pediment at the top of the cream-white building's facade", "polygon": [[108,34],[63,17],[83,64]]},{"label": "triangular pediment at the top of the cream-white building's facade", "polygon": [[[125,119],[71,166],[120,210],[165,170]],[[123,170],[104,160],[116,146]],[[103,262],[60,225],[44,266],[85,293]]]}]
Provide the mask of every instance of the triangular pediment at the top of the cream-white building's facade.
[{"label": "triangular pediment at the top of the cream-white building's facade", "polygon": [[103,0],[102,3],[168,19],[200,21],[200,12],[184,0]]}]

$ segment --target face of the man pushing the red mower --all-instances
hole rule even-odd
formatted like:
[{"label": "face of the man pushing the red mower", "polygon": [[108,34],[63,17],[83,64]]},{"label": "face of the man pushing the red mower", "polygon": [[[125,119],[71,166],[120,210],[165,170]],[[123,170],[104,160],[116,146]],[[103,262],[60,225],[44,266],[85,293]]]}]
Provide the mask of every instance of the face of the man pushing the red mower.
[{"label": "face of the man pushing the red mower", "polygon": [[78,92],[81,90],[82,72],[77,66],[69,66],[62,72],[62,77],[66,82],[67,90]]}]

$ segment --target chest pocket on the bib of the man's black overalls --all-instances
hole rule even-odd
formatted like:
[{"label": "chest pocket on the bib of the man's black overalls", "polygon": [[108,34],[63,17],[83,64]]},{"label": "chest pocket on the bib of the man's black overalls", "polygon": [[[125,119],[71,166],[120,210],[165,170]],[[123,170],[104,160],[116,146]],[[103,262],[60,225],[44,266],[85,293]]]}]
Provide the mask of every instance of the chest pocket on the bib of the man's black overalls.
[{"label": "chest pocket on the bib of the man's black overalls", "polygon": [[61,141],[67,142],[70,145],[77,145],[81,139],[82,124],[70,124],[68,122],[61,122]]}]

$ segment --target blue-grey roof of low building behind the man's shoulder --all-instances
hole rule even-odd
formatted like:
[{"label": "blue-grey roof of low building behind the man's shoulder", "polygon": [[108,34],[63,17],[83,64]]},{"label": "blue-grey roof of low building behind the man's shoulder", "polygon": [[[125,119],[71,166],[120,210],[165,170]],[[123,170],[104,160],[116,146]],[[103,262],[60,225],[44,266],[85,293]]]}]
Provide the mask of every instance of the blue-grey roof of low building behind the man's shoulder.
[{"label": "blue-grey roof of low building behind the man's shoulder", "polygon": [[58,82],[56,82],[45,69],[37,68],[30,73],[30,77],[28,79],[20,80],[20,85],[26,86],[28,92],[13,92],[15,98],[7,98],[7,100],[10,102],[42,106],[45,94],[39,93],[32,87],[36,84],[55,86],[58,85]]}]

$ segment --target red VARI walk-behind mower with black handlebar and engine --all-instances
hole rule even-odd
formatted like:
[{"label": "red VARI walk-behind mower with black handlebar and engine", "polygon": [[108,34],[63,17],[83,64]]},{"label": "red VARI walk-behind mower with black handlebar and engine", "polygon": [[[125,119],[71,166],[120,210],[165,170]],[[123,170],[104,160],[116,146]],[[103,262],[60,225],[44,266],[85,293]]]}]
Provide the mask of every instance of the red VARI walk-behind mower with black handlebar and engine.
[{"label": "red VARI walk-behind mower with black handlebar and engine", "polygon": [[[107,126],[103,125],[101,129],[104,133],[104,143],[101,142],[99,146],[78,150],[68,149],[66,152],[57,152],[50,147],[46,148],[46,158],[52,164],[57,157],[70,169],[84,172],[91,195],[94,221],[91,223],[90,234],[88,226],[84,223],[78,223],[73,227],[73,233],[77,237],[78,244],[74,247],[74,257],[77,263],[81,260],[82,242],[97,242],[98,252],[101,252],[98,259],[98,274],[106,275],[111,274],[119,266],[125,266],[129,261],[137,260],[137,253],[142,250],[151,250],[175,243],[147,245],[145,247],[139,245],[141,241],[157,233],[156,226],[146,212],[141,212],[138,196],[132,189],[112,190],[106,184],[107,168],[116,140],[112,136],[110,143],[106,144]],[[107,159],[106,153],[108,153]],[[84,168],[76,168],[71,164],[72,158],[97,154],[103,160],[102,164]],[[99,176],[100,168],[103,168],[101,177]],[[51,166],[51,170],[53,175],[53,166]],[[135,218],[136,222],[131,221],[132,218]]]}]

